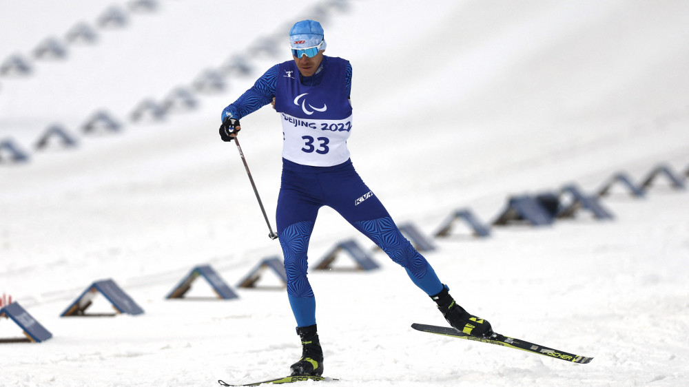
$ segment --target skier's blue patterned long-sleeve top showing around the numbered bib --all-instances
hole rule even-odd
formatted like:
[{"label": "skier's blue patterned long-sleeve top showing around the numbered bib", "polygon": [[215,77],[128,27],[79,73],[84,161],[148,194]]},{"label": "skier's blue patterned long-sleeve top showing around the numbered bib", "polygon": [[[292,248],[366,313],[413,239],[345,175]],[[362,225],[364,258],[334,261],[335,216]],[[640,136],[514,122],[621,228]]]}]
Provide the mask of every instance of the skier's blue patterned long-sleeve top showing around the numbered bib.
[{"label": "skier's blue patterned long-sleeve top showing around the numbered bib", "polygon": [[[327,71],[328,67],[328,56],[323,56],[323,61],[320,63],[318,70],[312,76],[302,76],[299,75],[302,85],[316,86],[320,84],[323,78],[324,72]],[[351,95],[351,65],[347,63],[345,68],[347,75],[345,76],[345,87],[347,88],[347,96]],[[278,77],[278,65],[270,67],[267,72],[265,72],[256,83],[244,94],[242,94],[237,101],[227,105],[223,109],[223,114],[220,116],[220,121],[223,121],[225,117],[232,114],[233,118],[238,120],[243,117],[256,112],[256,110],[268,105],[273,101],[275,96],[275,83]],[[229,114],[228,114],[229,113]]]}]

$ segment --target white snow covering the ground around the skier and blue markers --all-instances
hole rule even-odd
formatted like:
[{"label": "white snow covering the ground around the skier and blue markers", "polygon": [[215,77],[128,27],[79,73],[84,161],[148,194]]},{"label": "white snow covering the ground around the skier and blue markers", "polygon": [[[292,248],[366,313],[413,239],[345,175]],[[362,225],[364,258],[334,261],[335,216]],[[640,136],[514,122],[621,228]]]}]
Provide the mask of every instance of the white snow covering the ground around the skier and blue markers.
[{"label": "white snow covering the ground around the skier and blue markers", "polygon": [[[689,3],[686,1],[344,1],[329,8],[328,52],[353,65],[353,163],[393,218],[431,234],[452,211],[493,220],[506,199],[576,182],[593,193],[617,171],[635,181],[666,163],[689,167]],[[43,39],[94,25],[129,2],[0,0],[0,61],[31,59]],[[327,1],[158,1],[121,30],[65,61],[33,60],[28,78],[0,77],[0,139],[30,163],[0,164],[0,292],[53,334],[0,344],[0,386],[214,386],[284,375],[300,355],[284,290],[165,300],[198,264],[233,287],[263,258],[267,238],[220,111],[271,64],[164,123],[131,123],[200,72],[286,33]],[[285,41],[285,44],[287,42]],[[120,134],[79,129],[96,109]],[[76,149],[32,147],[52,123]],[[243,120],[242,145],[273,227],[280,125],[265,107]],[[553,227],[458,223],[426,253],[451,293],[496,331],[595,359],[570,364],[413,331],[444,324],[402,269],[313,272],[325,386],[685,386],[689,382],[689,195],[659,180],[645,199],[621,188]],[[371,242],[330,209],[311,238],[311,263],[339,240]],[[112,278],[138,316],[61,318],[96,280]],[[278,282],[265,273],[261,284]],[[90,311],[110,310],[103,297]],[[21,335],[10,320],[0,337]],[[313,385],[313,382],[305,383]],[[320,386],[321,384],[318,384]]]}]

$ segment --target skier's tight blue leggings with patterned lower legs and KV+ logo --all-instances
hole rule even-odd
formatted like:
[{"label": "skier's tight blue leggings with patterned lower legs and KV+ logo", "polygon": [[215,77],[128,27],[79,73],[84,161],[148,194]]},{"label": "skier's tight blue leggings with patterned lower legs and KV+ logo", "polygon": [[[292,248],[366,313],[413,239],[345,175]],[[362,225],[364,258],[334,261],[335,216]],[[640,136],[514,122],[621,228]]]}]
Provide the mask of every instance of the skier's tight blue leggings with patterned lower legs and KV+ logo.
[{"label": "skier's tight blue leggings with patterned lower legs and KV+ logo", "polygon": [[318,209],[338,211],[389,257],[407,270],[427,295],[439,293],[435,271],[390,218],[351,161],[333,167],[310,167],[282,160],[277,224],[287,271],[287,297],[298,326],[316,324],[316,299],[307,277],[307,251]]}]

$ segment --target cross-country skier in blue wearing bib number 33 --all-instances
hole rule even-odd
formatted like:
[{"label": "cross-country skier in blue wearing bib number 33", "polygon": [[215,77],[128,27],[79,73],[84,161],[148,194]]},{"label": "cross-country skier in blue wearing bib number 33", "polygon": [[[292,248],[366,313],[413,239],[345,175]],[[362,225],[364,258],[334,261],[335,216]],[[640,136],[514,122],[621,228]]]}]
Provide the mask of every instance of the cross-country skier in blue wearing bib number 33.
[{"label": "cross-country skier in blue wearing bib number 33", "polygon": [[307,278],[307,248],[318,209],[328,206],[390,258],[429,295],[447,322],[476,337],[493,333],[491,324],[467,313],[448,293],[433,268],[402,236],[390,214],[364,184],[349,159],[353,130],[351,65],[325,56],[323,28],[304,20],[289,31],[292,59],[270,67],[237,101],[225,107],[220,138],[232,141],[239,120],[274,103],[282,123],[282,180],[276,210],[285,256],[287,297],[302,342],[302,357],[292,375],[322,375],[323,351],[316,331],[316,299]]}]

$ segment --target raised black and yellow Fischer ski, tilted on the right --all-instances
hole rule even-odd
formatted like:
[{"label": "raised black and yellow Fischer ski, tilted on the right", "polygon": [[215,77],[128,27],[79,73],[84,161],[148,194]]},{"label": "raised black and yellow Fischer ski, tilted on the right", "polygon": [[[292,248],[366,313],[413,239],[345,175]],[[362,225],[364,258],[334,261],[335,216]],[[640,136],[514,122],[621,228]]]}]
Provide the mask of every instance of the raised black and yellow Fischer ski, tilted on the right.
[{"label": "raised black and yellow Fischer ski, tilted on the right", "polygon": [[555,359],[562,359],[562,360],[565,360],[567,362],[586,364],[586,363],[590,362],[591,360],[593,360],[593,357],[585,357],[585,356],[581,356],[581,355],[575,355],[573,353],[567,353],[564,351],[559,351],[559,350],[554,349],[554,348],[548,348],[547,346],[542,346],[539,344],[533,344],[530,342],[525,342],[522,339],[515,339],[513,337],[507,337],[504,335],[500,335],[499,333],[493,333],[493,335],[490,338],[484,339],[482,337],[474,337],[474,336],[467,335],[466,333],[462,333],[460,331],[457,331],[455,328],[446,327],[446,326],[435,326],[435,325],[426,325],[426,324],[414,323],[414,324],[411,324],[411,327],[416,329],[417,331],[434,333],[435,335],[457,337],[460,339],[471,340],[473,342],[482,342],[482,343],[495,344],[495,345],[499,345],[499,346],[506,346],[508,348],[516,348],[516,349],[520,349],[522,351],[535,353],[537,355],[544,355],[544,356],[554,357]]}]

